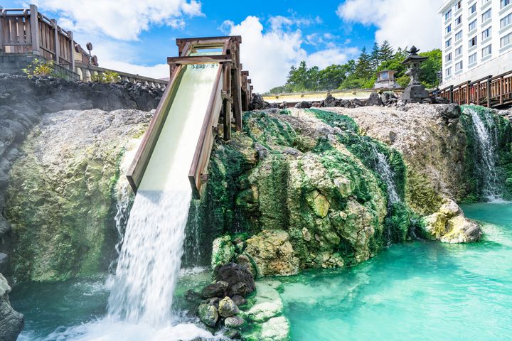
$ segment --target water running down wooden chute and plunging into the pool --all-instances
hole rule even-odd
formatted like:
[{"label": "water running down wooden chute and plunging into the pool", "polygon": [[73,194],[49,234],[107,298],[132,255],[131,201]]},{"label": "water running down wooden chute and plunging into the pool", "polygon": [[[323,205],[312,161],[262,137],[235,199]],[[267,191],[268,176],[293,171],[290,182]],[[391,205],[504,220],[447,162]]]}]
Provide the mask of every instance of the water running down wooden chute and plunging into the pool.
[{"label": "water running down wooden chute and plunging into the pool", "polygon": [[156,328],[171,306],[192,190],[188,181],[218,65],[188,65],[129,214],[108,301],[109,317]]}]

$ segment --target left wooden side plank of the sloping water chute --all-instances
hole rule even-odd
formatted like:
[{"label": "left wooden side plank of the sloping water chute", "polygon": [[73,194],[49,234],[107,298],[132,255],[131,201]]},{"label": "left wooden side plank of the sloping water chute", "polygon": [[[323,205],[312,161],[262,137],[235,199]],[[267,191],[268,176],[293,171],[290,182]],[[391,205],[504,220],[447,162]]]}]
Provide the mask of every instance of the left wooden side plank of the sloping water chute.
[{"label": "left wooden side plank of the sloping water chute", "polygon": [[158,141],[160,136],[163,123],[167,118],[167,114],[169,114],[169,108],[176,96],[176,91],[178,90],[177,85],[179,85],[181,77],[183,76],[182,71],[183,67],[176,67],[174,70],[171,80],[169,80],[169,84],[167,85],[166,90],[162,95],[162,99],[156,108],[154,117],[151,119],[141,145],[135,154],[134,161],[127,172],[128,182],[132,186],[134,193],[137,193],[137,188],[139,188],[142,181],[142,176],[146,171],[149,158],[151,157],[151,153],[153,153],[154,147],[156,146],[156,141]]}]

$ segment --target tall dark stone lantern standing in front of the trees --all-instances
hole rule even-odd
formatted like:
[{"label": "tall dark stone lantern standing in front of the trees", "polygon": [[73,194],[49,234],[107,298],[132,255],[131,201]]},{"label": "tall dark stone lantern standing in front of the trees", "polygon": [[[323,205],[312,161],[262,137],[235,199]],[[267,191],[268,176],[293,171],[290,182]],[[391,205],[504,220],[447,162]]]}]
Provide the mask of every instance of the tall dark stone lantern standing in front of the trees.
[{"label": "tall dark stone lantern standing in front of the trees", "polygon": [[423,102],[424,99],[429,98],[428,91],[425,90],[425,87],[419,80],[420,65],[428,58],[418,55],[418,51],[420,50],[412,46],[410,51],[407,51],[407,53],[409,53],[407,59],[403,61],[403,64],[408,67],[405,75],[410,77],[409,85],[407,85],[402,94],[402,101],[405,103],[420,103]]}]

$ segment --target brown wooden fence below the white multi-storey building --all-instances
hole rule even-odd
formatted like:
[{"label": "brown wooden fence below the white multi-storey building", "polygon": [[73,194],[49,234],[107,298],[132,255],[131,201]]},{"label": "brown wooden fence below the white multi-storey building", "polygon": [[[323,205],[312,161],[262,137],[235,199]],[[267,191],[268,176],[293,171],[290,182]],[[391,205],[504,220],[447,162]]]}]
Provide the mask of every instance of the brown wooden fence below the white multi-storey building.
[{"label": "brown wooden fence below the white multi-storey building", "polygon": [[439,90],[438,95],[457,104],[476,104],[489,108],[511,105],[512,71],[446,87]]}]

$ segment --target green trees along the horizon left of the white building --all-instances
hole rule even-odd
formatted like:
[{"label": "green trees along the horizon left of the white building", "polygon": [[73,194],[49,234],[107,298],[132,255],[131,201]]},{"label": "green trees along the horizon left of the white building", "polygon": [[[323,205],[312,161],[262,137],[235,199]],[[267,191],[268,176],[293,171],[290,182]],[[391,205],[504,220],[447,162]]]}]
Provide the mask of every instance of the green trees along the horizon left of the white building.
[{"label": "green trees along the horizon left of the white building", "polygon": [[[371,89],[377,80],[377,72],[382,70],[395,70],[398,84],[405,87],[410,78],[405,75],[407,67],[402,64],[407,58],[407,48],[396,50],[384,41],[382,45],[375,43],[370,52],[361,49],[356,60],[347,63],[329,65],[323,70],[319,67],[308,67],[302,61],[298,67],[292,66],[289,70],[287,82],[280,87],[274,87],[269,92],[304,92],[316,90],[349,90]],[[442,52],[439,49],[430,50],[420,55],[428,57],[421,66],[420,80],[427,88],[439,85],[438,74],[442,69]]]}]

